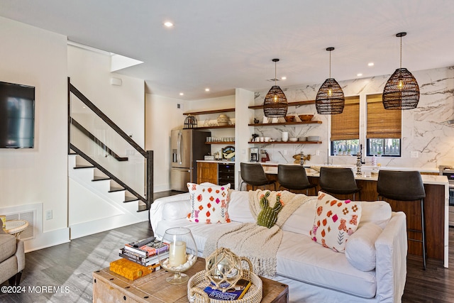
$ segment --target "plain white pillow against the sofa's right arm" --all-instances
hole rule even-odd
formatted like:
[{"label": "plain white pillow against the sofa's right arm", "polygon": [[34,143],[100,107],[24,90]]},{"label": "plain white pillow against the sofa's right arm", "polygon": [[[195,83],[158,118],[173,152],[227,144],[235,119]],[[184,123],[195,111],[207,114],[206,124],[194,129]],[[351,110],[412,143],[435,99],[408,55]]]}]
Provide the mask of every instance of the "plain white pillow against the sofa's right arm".
[{"label": "plain white pillow against the sofa's right arm", "polygon": [[360,226],[348,238],[345,245],[345,257],[358,270],[373,270],[376,263],[375,241],[382,233],[382,228],[371,222]]}]

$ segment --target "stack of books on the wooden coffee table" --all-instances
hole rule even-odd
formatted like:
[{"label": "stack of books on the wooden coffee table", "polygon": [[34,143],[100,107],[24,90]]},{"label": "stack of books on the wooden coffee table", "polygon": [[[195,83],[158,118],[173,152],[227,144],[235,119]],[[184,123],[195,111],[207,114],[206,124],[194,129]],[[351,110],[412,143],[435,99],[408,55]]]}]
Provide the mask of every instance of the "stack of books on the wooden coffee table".
[{"label": "stack of books on the wooden coffee table", "polygon": [[169,255],[169,244],[161,243],[155,237],[126,243],[124,248],[118,250],[120,257],[143,266],[159,265],[157,253],[160,253],[161,258],[167,258]]}]

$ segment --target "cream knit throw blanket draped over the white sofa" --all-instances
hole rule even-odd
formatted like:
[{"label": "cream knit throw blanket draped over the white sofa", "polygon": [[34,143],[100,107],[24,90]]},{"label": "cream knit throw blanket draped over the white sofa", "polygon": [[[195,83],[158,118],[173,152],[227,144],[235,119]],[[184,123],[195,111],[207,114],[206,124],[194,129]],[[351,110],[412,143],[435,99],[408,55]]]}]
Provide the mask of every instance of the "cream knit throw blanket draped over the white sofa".
[{"label": "cream knit throw blanket draped over the white sofa", "polygon": [[[274,276],[277,266],[276,253],[283,235],[282,225],[301,204],[313,199],[304,194],[293,194],[287,191],[271,192],[268,197],[270,207],[275,205],[277,193],[281,194],[281,202],[284,202],[284,207],[277,215],[275,226],[267,228],[255,223],[245,223],[234,228],[218,230],[207,238],[204,258],[211,255],[216,248],[230,248],[236,255],[250,260],[256,275]],[[255,192],[249,191],[249,209],[255,220],[261,211],[260,197],[262,194],[265,194],[265,191],[260,189]]]}]

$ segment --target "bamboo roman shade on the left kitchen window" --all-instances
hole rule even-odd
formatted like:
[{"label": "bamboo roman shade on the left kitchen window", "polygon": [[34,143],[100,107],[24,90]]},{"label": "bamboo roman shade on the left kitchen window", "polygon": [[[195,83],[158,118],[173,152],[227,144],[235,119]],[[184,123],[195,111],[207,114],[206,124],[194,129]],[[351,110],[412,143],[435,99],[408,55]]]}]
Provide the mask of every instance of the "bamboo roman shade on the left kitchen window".
[{"label": "bamboo roman shade on the left kitchen window", "polygon": [[360,97],[345,97],[342,114],[331,116],[331,141],[360,138]]}]

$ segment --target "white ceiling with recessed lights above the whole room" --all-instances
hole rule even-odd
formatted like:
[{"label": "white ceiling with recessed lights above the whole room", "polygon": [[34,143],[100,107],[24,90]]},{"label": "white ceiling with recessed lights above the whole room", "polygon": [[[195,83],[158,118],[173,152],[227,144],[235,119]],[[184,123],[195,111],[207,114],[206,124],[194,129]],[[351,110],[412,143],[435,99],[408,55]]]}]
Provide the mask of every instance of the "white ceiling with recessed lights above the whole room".
[{"label": "white ceiling with recessed lights above the whole room", "polygon": [[402,31],[402,67],[451,66],[453,12],[452,0],[0,1],[0,16],[143,61],[118,72],[145,79],[152,94],[188,100],[267,89],[273,58],[277,78],[287,77],[279,86],[322,83],[331,46],[338,81],[390,75]]}]

